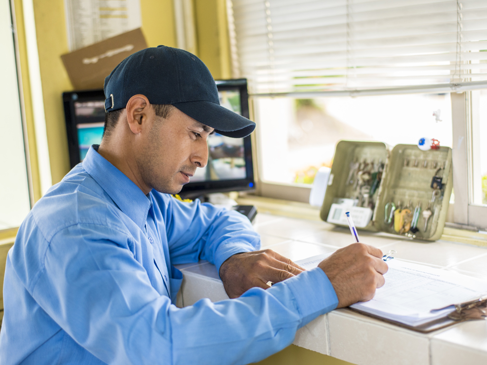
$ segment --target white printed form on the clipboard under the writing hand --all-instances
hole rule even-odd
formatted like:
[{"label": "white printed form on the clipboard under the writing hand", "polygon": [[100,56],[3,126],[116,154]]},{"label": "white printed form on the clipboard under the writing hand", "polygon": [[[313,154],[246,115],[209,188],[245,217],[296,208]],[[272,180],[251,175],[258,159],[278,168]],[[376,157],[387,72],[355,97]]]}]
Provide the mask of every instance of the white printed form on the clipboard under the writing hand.
[{"label": "white printed form on the clipboard under the writing hand", "polygon": [[[310,257],[297,264],[312,269],[329,255]],[[406,325],[420,326],[445,317],[454,310],[454,304],[487,294],[486,280],[397,258],[387,261],[387,264],[389,271],[384,275],[384,286],[376,290],[372,300],[356,303],[351,308]]]}]

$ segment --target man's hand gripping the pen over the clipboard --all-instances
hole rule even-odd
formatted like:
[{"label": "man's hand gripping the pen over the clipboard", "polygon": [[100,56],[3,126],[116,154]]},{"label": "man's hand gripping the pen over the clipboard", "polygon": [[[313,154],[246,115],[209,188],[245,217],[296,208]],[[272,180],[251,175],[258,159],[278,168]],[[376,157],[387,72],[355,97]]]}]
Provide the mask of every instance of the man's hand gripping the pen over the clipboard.
[{"label": "man's hand gripping the pen over the clipboard", "polygon": [[335,289],[338,308],[374,297],[375,289],[384,285],[388,266],[378,248],[354,243],[337,250],[318,265]]}]

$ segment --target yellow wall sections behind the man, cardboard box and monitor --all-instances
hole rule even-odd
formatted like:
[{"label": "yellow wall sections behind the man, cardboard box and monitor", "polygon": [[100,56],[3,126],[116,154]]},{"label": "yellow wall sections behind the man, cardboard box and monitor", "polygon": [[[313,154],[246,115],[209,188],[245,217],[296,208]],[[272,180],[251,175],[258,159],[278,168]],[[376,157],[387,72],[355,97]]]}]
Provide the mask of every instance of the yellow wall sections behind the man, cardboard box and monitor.
[{"label": "yellow wall sections behind the man, cardboard box and monitor", "polygon": [[[174,10],[172,0],[141,0],[142,31],[150,47],[160,44],[176,47]],[[21,0],[15,0],[16,18],[18,19],[20,55],[25,67],[24,98],[28,123],[33,125],[28,87],[25,40],[23,36]],[[225,0],[195,1],[195,27],[200,58],[208,65],[215,78],[228,78],[230,60],[226,32]],[[51,162],[53,184],[58,183],[69,171],[69,154],[66,141],[64,111],[61,99],[63,91],[72,91],[73,87],[64,69],[60,56],[68,53],[63,0],[34,0],[34,15],[37,31],[40,76],[44,98],[46,131]],[[24,65],[23,65],[24,66]],[[36,141],[34,133],[29,133],[31,164],[36,201],[40,198],[40,183],[37,168]]]}]

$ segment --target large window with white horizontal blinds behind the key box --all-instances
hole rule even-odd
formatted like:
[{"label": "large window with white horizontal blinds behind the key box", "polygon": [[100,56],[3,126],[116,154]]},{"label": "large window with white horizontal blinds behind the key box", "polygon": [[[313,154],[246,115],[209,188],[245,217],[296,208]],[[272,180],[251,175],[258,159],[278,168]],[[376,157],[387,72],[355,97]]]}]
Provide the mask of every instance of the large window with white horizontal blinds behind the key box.
[{"label": "large window with white horizontal blinds behind the key box", "polygon": [[286,198],[306,201],[303,183],[330,164],[339,139],[430,137],[453,148],[455,222],[487,227],[485,1],[227,2],[233,72],[249,80],[259,128],[264,195],[268,184],[287,185],[300,194]]}]

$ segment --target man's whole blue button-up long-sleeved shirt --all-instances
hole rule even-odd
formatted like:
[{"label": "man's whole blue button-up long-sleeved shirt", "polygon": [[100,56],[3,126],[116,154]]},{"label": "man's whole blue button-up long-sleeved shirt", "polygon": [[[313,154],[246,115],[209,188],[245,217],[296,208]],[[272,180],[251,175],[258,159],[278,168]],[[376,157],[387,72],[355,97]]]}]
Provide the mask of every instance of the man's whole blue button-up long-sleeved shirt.
[{"label": "man's whole blue button-up long-sleeved shirt", "polygon": [[259,361],[336,308],[324,272],[180,309],[182,275],[171,265],[205,259],[220,269],[259,246],[239,213],[146,196],[92,147],[37,202],[8,253],[0,363]]}]

